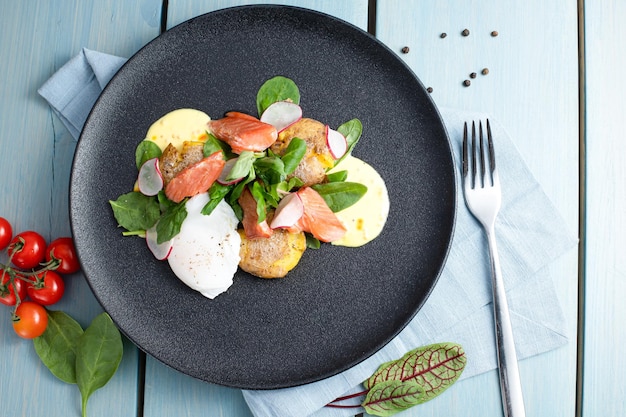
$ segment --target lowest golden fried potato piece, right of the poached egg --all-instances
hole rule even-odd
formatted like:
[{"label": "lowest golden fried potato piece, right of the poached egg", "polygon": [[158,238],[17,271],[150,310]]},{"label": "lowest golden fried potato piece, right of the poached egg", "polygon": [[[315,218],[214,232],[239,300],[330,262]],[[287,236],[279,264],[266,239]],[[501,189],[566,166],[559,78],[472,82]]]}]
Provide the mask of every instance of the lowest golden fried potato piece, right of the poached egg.
[{"label": "lowest golden fried potato piece, right of the poached egg", "polygon": [[276,229],[268,238],[249,239],[243,229],[239,267],[260,278],[283,278],[295,268],[306,249],[304,233]]}]

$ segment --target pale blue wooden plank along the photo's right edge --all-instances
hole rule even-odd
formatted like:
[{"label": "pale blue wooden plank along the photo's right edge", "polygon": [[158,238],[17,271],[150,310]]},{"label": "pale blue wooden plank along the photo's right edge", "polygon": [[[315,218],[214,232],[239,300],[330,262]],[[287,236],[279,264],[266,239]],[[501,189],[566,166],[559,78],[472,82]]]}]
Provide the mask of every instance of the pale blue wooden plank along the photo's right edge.
[{"label": "pale blue wooden plank along the photo's right edge", "polygon": [[585,327],[582,414],[626,415],[626,3],[587,1]]}]

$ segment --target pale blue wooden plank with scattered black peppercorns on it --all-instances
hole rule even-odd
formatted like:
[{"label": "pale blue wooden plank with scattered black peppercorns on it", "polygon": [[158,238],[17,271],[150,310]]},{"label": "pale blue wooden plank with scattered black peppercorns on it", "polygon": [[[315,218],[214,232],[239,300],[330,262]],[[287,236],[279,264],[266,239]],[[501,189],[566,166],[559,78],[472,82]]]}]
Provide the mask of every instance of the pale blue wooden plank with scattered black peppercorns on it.
[{"label": "pale blue wooden plank with scattered black peppercorns on it", "polygon": [[[469,36],[462,35],[464,29]],[[498,36],[491,35],[494,30]],[[447,36],[442,38],[442,33]],[[433,88],[437,105],[487,112],[500,121],[574,233],[579,191],[576,33],[575,1],[413,0],[401,6],[377,1],[377,37]],[[488,75],[481,75],[484,68]],[[476,78],[470,78],[472,72]],[[464,80],[471,85],[463,86]],[[551,265],[550,273],[570,342],[522,361],[520,373],[527,415],[571,416],[576,388],[575,251]],[[496,373],[461,381],[406,415],[502,415]]]}]

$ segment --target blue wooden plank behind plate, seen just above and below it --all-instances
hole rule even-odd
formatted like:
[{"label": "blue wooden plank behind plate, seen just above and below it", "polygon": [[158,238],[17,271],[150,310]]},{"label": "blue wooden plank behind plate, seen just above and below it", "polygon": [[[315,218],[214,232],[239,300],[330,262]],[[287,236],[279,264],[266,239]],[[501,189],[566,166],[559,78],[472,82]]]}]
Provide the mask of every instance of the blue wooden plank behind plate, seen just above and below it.
[{"label": "blue wooden plank behind plate, seen just above and below it", "polygon": [[[244,4],[285,4],[306,7],[342,18],[367,29],[367,0],[328,2],[307,1],[244,1],[170,0],[168,27],[210,11]],[[145,417],[171,415],[251,416],[240,390],[206,384],[173,371],[154,358],[146,364]]]}]

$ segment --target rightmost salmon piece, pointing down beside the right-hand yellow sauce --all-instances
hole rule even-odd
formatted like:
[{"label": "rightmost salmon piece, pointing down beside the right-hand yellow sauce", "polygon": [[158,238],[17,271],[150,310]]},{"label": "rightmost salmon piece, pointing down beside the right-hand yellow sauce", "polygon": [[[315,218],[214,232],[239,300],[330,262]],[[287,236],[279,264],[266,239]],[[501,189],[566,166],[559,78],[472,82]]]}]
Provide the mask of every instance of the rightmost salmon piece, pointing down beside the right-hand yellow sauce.
[{"label": "rightmost salmon piece, pointing down beside the right-hand yellow sauce", "polygon": [[301,230],[322,242],[333,242],[343,237],[346,228],[317,191],[303,187],[298,190],[298,195],[304,205],[304,214],[297,223]]}]

